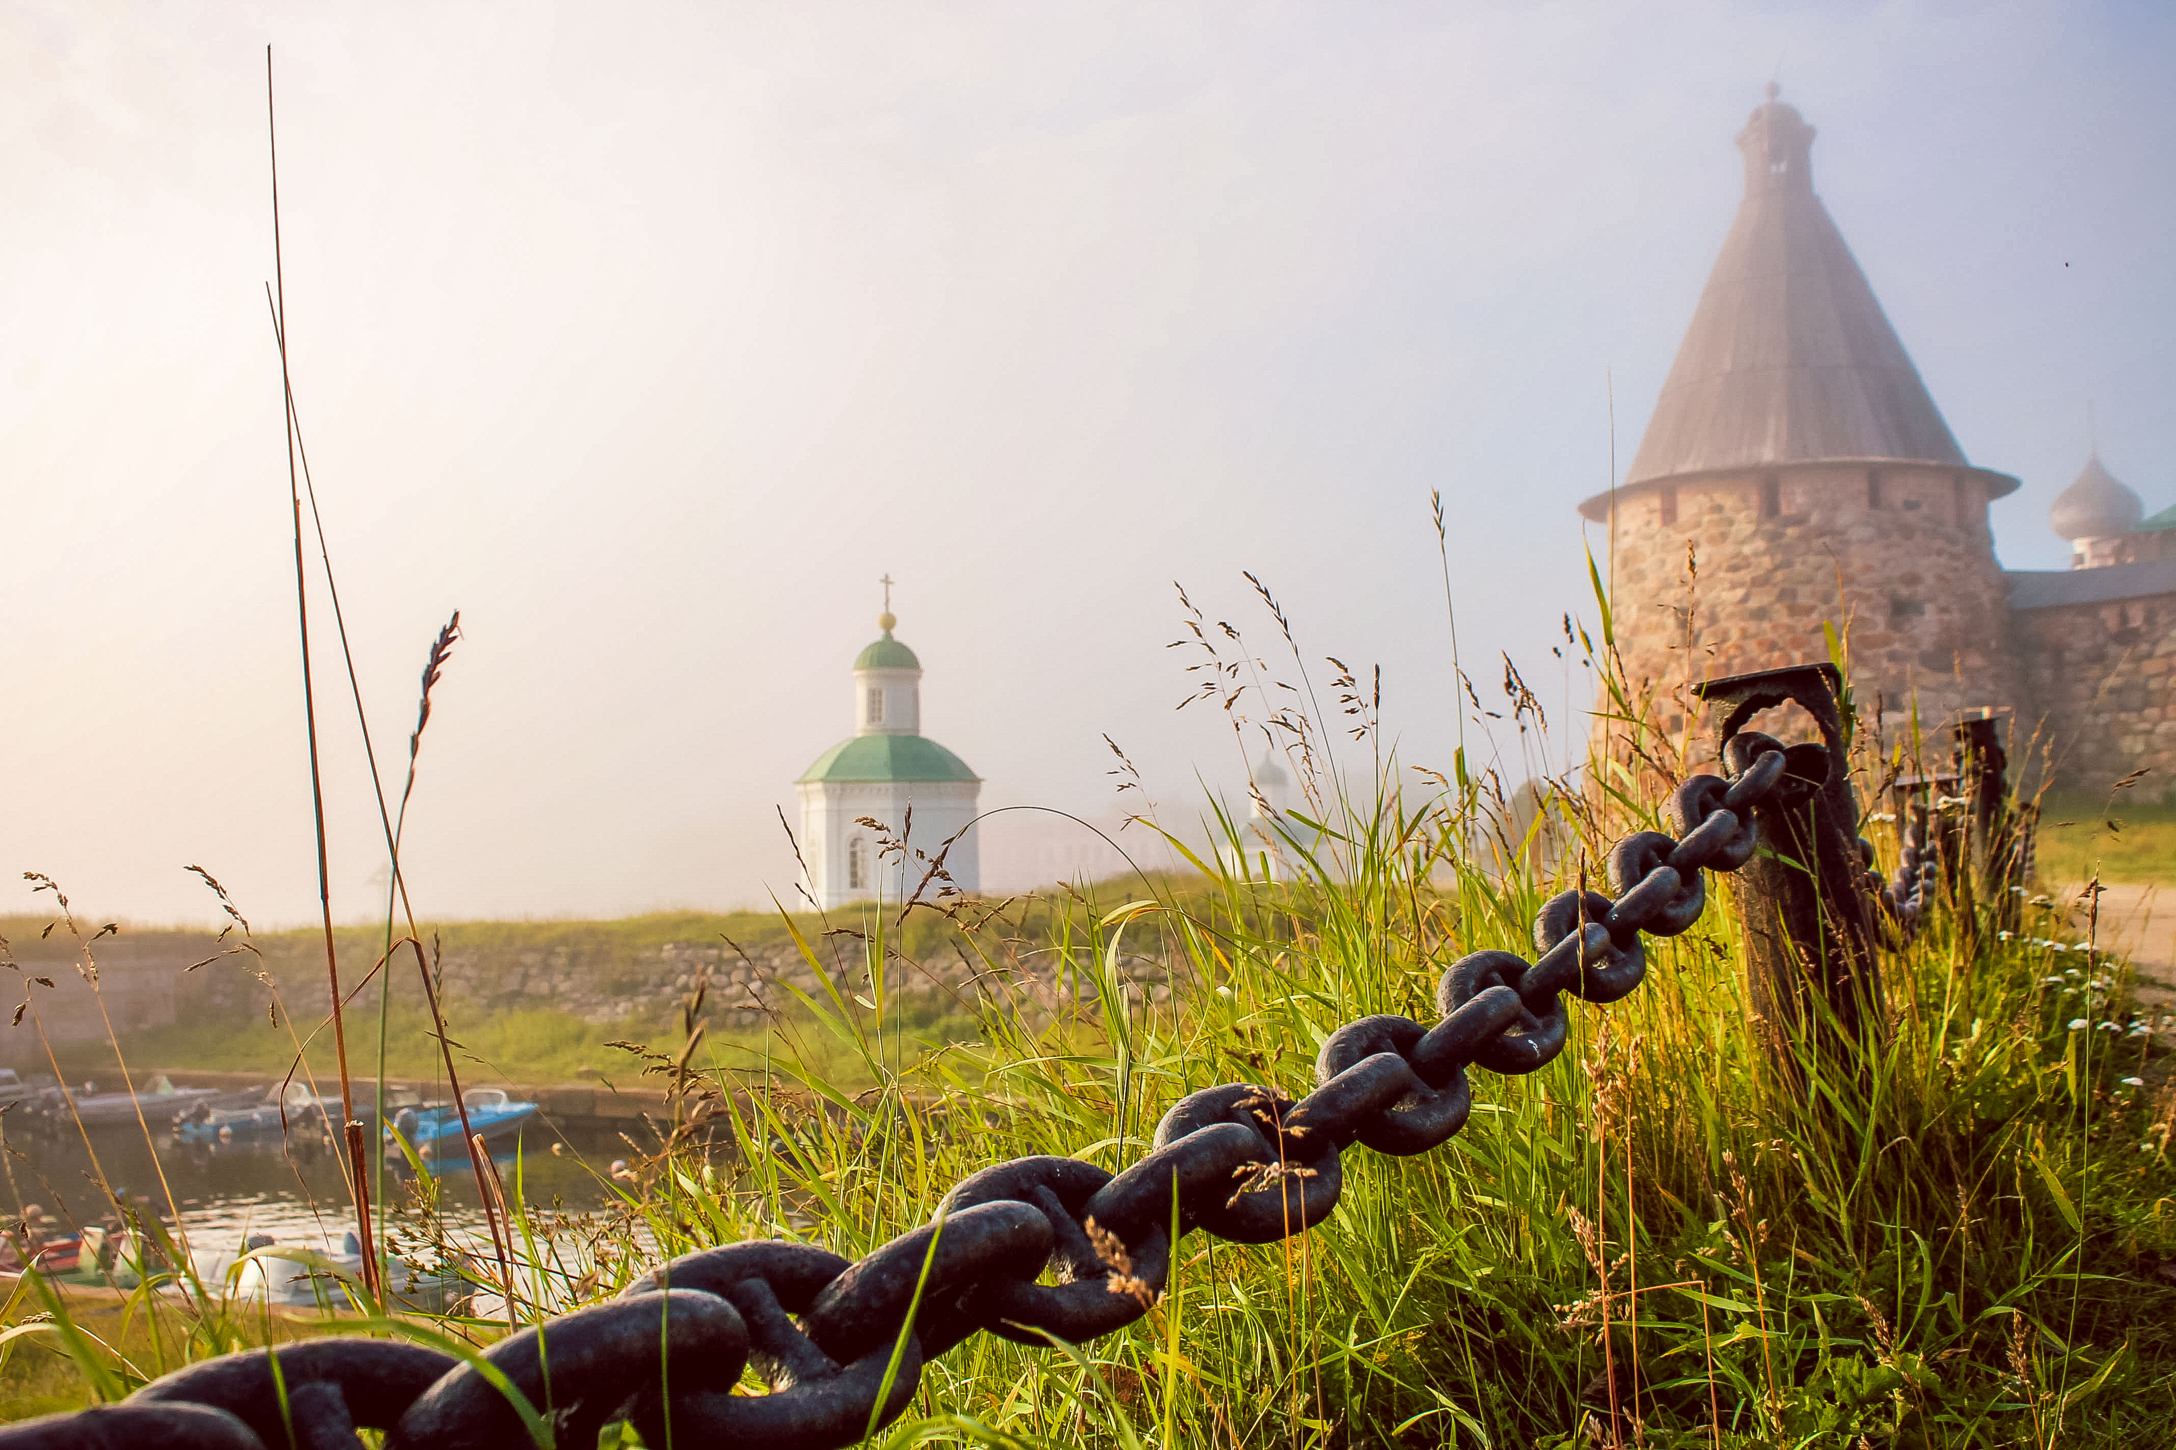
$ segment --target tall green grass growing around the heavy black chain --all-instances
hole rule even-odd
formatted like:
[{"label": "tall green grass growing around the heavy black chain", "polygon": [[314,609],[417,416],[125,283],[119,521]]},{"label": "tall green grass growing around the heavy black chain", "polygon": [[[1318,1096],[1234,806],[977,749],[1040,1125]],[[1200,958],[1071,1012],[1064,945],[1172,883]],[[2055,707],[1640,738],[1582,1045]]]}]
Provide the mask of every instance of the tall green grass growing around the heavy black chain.
[{"label": "tall green grass growing around the heavy black chain", "polygon": [[[675,1246],[775,1235],[814,1193],[816,1237],[860,1254],[986,1163],[1118,1165],[1188,1089],[1303,1091],[1338,1022],[1427,1020],[1449,959],[1523,946],[1545,883],[1423,883],[1406,863],[1441,830],[1371,822],[1321,880],[1225,880],[1136,920],[1192,957],[1197,991],[1169,1011],[992,1020],[986,1048],[931,1046],[894,1076],[901,1100],[949,1091],[953,1122],[964,1098],[988,1133],[879,1104],[860,1135],[816,1135],[805,1172],[764,1161],[716,1200],[659,1167],[651,1228]],[[1121,920],[1081,915],[1084,980]],[[2156,1109],[2117,1080],[2146,1061],[2137,1041],[2111,1054],[2067,1030],[2069,954],[1937,926],[1889,963],[1874,1074],[1830,1076],[1813,1109],[1750,1046],[1732,902],[1654,957],[1632,1000],[1575,1009],[1556,1065],[1475,1074],[1482,1107],[1451,1146],[1349,1150],[1345,1202],[1303,1241],[1188,1241],[1175,1302],[1086,1363],[979,1339],[927,1372],[927,1402],[1064,1446],[1573,1443],[1615,1361],[1652,1446],[2165,1443],[2165,1072]]]}]

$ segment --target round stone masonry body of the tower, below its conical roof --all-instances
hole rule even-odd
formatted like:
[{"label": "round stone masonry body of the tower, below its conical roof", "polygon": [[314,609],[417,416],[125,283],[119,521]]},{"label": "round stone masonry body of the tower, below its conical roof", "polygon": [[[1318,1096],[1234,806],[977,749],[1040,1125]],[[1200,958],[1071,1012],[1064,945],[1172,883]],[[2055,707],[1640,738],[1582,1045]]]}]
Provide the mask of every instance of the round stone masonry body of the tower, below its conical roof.
[{"label": "round stone masonry body of the tower, below its conical roof", "polygon": [[1876,696],[1891,730],[1915,698],[1921,720],[2019,700],[1987,485],[1969,470],[1819,463],[1643,485],[1619,496],[1612,559],[1625,670],[1669,730],[1689,683],[1826,661],[1821,624],[1845,620],[1867,722]]}]

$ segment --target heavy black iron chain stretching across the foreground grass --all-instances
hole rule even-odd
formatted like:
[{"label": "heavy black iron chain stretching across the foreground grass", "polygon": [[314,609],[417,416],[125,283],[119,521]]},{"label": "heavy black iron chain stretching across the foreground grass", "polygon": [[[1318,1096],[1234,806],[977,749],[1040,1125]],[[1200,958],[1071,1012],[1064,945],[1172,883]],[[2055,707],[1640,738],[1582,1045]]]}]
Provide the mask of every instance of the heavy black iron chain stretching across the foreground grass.
[{"label": "heavy black iron chain stretching across the foreground grass", "polygon": [[[938,1220],[860,1263],[788,1241],[709,1248],[498,1341],[481,1365],[359,1337],[248,1350],[122,1404],[0,1428],[0,1450],[359,1450],[357,1428],[385,1430],[387,1450],[531,1443],[500,1383],[561,1446],[594,1446],[614,1420],[651,1446],[855,1443],[905,1411],[929,1359],[975,1333],[1079,1343],[1142,1317],[1171,1274],[1173,1215],[1182,1235],[1273,1243],[1336,1209],[1351,1143],[1408,1157],[1449,1141],[1473,1111],[1467,1070],[1536,1072],[1565,1050],[1567,996],[1602,1004],[1639,987],[1641,935],[1673,937],[1699,920],[1702,872],[1754,857],[1752,809],[1793,804],[1806,780],[1826,778],[1826,759],[1808,754],[1819,750],[1736,735],[1728,778],[1693,776],[1671,796],[1676,837],[1641,830],[1610,850],[1615,900],[1565,891],[1541,909],[1536,961],[1458,959],[1436,985],[1434,1026],[1399,1015],[1340,1026],[1297,1102],[1260,1083],[1188,1093],[1149,1154],[1118,1174],[1014,1159],[962,1180]],[[1891,891],[1906,872],[1917,915],[1932,861],[1911,835]],[[1040,1283],[1047,1270],[1058,1283]],[[770,1393],[733,1393],[751,1365]]]}]

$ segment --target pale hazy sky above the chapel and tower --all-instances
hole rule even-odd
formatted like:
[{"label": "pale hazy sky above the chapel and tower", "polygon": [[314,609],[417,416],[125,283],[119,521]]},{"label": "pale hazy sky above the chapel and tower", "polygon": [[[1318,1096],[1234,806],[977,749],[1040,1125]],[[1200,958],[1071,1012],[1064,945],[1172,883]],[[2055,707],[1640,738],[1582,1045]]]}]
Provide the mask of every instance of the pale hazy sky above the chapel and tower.
[{"label": "pale hazy sky above the chapel and tower", "polygon": [[[2176,502],[2163,4],[0,4],[0,867],[316,911],[272,274],[381,761],[433,630],[431,913],[762,902],[890,572],[986,804],[1242,759],[1173,580],[1382,663],[1445,765],[1543,685],[1780,74],[2011,567],[2087,402]],[[322,611],[329,626],[331,617]],[[331,635],[335,911],[376,815]],[[1582,700],[1573,702],[1578,709]],[[1573,726],[1573,735],[1578,726]],[[7,887],[0,913],[28,909]]]}]

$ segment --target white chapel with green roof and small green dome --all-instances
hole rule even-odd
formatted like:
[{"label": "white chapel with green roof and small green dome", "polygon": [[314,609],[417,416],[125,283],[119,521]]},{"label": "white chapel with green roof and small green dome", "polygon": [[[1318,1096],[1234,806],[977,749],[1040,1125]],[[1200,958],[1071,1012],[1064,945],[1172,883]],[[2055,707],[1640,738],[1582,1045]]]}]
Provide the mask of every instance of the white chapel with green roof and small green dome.
[{"label": "white chapel with green roof and small green dome", "polygon": [[[981,833],[968,828],[981,778],[920,733],[923,661],[892,639],[897,624],[886,578],[886,609],[877,615],[883,637],[853,661],[853,735],[825,750],[796,783],[807,891],[825,911],[862,900],[897,904],[916,889],[923,900],[936,900],[944,883],[923,887],[923,878],[947,841],[951,885],[964,893],[981,889],[975,839]],[[886,848],[886,837],[899,841],[910,830],[910,807],[905,850]]]}]

